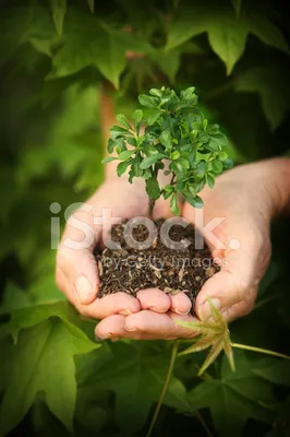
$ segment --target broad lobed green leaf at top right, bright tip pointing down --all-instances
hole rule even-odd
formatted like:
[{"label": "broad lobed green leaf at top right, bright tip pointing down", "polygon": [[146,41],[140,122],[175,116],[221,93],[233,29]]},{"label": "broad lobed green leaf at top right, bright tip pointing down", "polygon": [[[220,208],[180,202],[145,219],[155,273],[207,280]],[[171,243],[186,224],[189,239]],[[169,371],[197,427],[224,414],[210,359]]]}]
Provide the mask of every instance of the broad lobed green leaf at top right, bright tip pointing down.
[{"label": "broad lobed green leaf at top right, bright tip pointing down", "polygon": [[207,5],[193,4],[180,8],[179,14],[172,20],[168,33],[167,51],[180,46],[193,36],[204,32],[213,50],[225,62],[227,74],[241,58],[249,33],[253,33],[265,44],[289,52],[287,42],[279,31],[263,12],[247,11],[239,19],[230,8],[210,9]]}]

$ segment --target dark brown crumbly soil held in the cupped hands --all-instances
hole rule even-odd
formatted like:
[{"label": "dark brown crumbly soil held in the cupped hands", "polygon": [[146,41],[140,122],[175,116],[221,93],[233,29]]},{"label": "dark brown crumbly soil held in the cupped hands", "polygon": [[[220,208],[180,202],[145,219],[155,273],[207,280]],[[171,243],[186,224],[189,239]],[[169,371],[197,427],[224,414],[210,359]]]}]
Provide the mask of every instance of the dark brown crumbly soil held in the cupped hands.
[{"label": "dark brown crumbly soil held in the cupped hands", "polygon": [[[173,241],[186,238],[192,241],[179,250],[165,246],[159,236],[162,222],[156,223],[158,234],[153,245],[143,250],[133,249],[123,238],[124,224],[114,225],[111,238],[118,241],[121,249],[104,249],[96,252],[100,276],[99,297],[111,293],[125,292],[133,296],[144,288],[159,288],[165,293],[184,292],[191,298],[193,307],[203,284],[213,276],[219,268],[214,264],[208,247],[194,248],[194,227],[186,228],[174,225],[169,232]],[[148,231],[144,225],[136,225],[133,237],[137,241],[146,240]]]}]

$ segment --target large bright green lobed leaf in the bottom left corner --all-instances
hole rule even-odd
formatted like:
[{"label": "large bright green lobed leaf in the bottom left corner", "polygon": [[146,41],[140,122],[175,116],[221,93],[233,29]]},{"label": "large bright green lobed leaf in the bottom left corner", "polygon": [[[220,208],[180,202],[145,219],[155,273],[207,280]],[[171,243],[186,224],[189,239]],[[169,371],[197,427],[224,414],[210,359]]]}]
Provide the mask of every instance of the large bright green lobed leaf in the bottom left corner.
[{"label": "large bright green lobed leaf in the bottom left corner", "polygon": [[72,432],[76,402],[74,355],[97,347],[81,329],[57,318],[22,332],[10,357],[0,435],[7,435],[22,421],[40,392],[50,411]]}]

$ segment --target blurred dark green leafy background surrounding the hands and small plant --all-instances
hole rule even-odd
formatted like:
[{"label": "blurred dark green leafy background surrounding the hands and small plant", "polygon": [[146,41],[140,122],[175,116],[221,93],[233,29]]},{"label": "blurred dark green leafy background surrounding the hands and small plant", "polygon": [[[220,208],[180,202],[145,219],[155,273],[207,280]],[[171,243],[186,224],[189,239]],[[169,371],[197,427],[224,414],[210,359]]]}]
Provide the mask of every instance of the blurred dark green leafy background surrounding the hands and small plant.
[{"label": "blurred dark green leafy background surrounding the hands and small plant", "polygon": [[[101,184],[104,79],[124,114],[150,86],[195,85],[235,163],[288,153],[286,9],[242,0],[1,4],[0,435],[142,436],[171,344],[95,342],[94,324],[55,285],[50,204],[63,217]],[[146,56],[126,60],[129,50]],[[290,353],[288,243],[280,220],[256,307],[231,326],[234,341]],[[235,353],[235,374],[220,358],[201,379],[203,359],[178,358],[155,435],[290,435],[288,363]]]}]

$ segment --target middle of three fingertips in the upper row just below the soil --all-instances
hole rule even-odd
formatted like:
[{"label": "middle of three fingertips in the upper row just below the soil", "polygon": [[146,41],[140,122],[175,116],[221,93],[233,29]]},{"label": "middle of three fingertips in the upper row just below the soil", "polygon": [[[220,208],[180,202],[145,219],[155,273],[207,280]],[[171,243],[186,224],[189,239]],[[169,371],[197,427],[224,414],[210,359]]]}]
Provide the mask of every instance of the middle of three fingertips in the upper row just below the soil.
[{"label": "middle of three fingertips in the upper row just below the soil", "polygon": [[170,297],[161,290],[147,288],[137,292],[142,309],[152,309],[156,312],[167,312],[170,308]]}]

